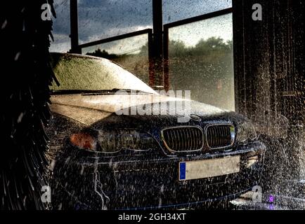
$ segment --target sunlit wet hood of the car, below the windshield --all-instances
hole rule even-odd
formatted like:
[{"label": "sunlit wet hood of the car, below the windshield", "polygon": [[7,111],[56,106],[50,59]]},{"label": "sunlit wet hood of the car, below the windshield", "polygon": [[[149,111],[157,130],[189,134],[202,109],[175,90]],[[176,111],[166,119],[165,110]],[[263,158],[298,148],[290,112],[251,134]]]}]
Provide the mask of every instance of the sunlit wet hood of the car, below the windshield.
[{"label": "sunlit wet hood of the car, below the windshield", "polygon": [[[122,108],[162,102],[169,102],[169,104],[170,102],[189,102],[190,114],[200,117],[223,116],[224,113],[228,113],[228,111],[208,104],[161,94],[58,94],[51,97],[50,109],[54,113],[72,118],[85,125],[92,125],[99,120],[116,115],[116,112]],[[152,109],[152,114],[155,115],[157,112]],[[163,118],[167,114],[171,117],[181,116],[179,113],[170,113],[168,109],[162,111]],[[147,116],[141,116],[142,119],[143,117],[147,118]]]}]

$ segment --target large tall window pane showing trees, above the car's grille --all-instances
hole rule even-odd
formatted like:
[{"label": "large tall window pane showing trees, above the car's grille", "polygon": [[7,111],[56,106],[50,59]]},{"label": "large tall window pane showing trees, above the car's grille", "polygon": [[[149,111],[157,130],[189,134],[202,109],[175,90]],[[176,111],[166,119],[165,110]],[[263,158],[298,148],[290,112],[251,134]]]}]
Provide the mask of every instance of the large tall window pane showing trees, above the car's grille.
[{"label": "large tall window pane showing trees, above the car's grille", "polygon": [[169,85],[235,110],[231,13],[169,29]]}]

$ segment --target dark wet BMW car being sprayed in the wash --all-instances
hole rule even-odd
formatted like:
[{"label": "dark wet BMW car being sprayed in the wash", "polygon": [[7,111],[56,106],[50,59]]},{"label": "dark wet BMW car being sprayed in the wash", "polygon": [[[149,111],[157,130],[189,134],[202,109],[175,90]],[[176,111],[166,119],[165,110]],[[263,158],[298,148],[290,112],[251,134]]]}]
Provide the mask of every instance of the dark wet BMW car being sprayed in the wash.
[{"label": "dark wet BMW car being sprayed in the wash", "polygon": [[51,56],[54,209],[178,209],[259,184],[266,146],[245,116],[155,92],[108,59]]}]

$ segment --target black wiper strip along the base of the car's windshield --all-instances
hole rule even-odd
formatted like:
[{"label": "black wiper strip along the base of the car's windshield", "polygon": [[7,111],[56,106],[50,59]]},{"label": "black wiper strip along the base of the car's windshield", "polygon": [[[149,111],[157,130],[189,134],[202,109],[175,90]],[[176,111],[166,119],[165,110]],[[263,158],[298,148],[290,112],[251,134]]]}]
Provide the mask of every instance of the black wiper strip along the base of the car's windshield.
[{"label": "black wiper strip along the base of the car's windshield", "polygon": [[[122,92],[119,92],[122,91]],[[51,94],[152,94],[151,92],[145,92],[142,90],[131,90],[131,89],[118,89],[114,88],[112,90],[51,90]]]}]

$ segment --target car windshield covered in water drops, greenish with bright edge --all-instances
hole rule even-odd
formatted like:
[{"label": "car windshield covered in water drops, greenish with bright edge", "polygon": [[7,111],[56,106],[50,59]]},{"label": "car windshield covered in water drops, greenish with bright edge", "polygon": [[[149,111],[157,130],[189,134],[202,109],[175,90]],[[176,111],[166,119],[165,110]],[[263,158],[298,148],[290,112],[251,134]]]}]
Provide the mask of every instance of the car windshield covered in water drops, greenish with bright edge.
[{"label": "car windshield covered in water drops, greenish with bright edge", "polygon": [[51,90],[140,90],[156,93],[121,66],[104,58],[69,54],[51,54],[53,72],[60,85],[53,82]]}]

